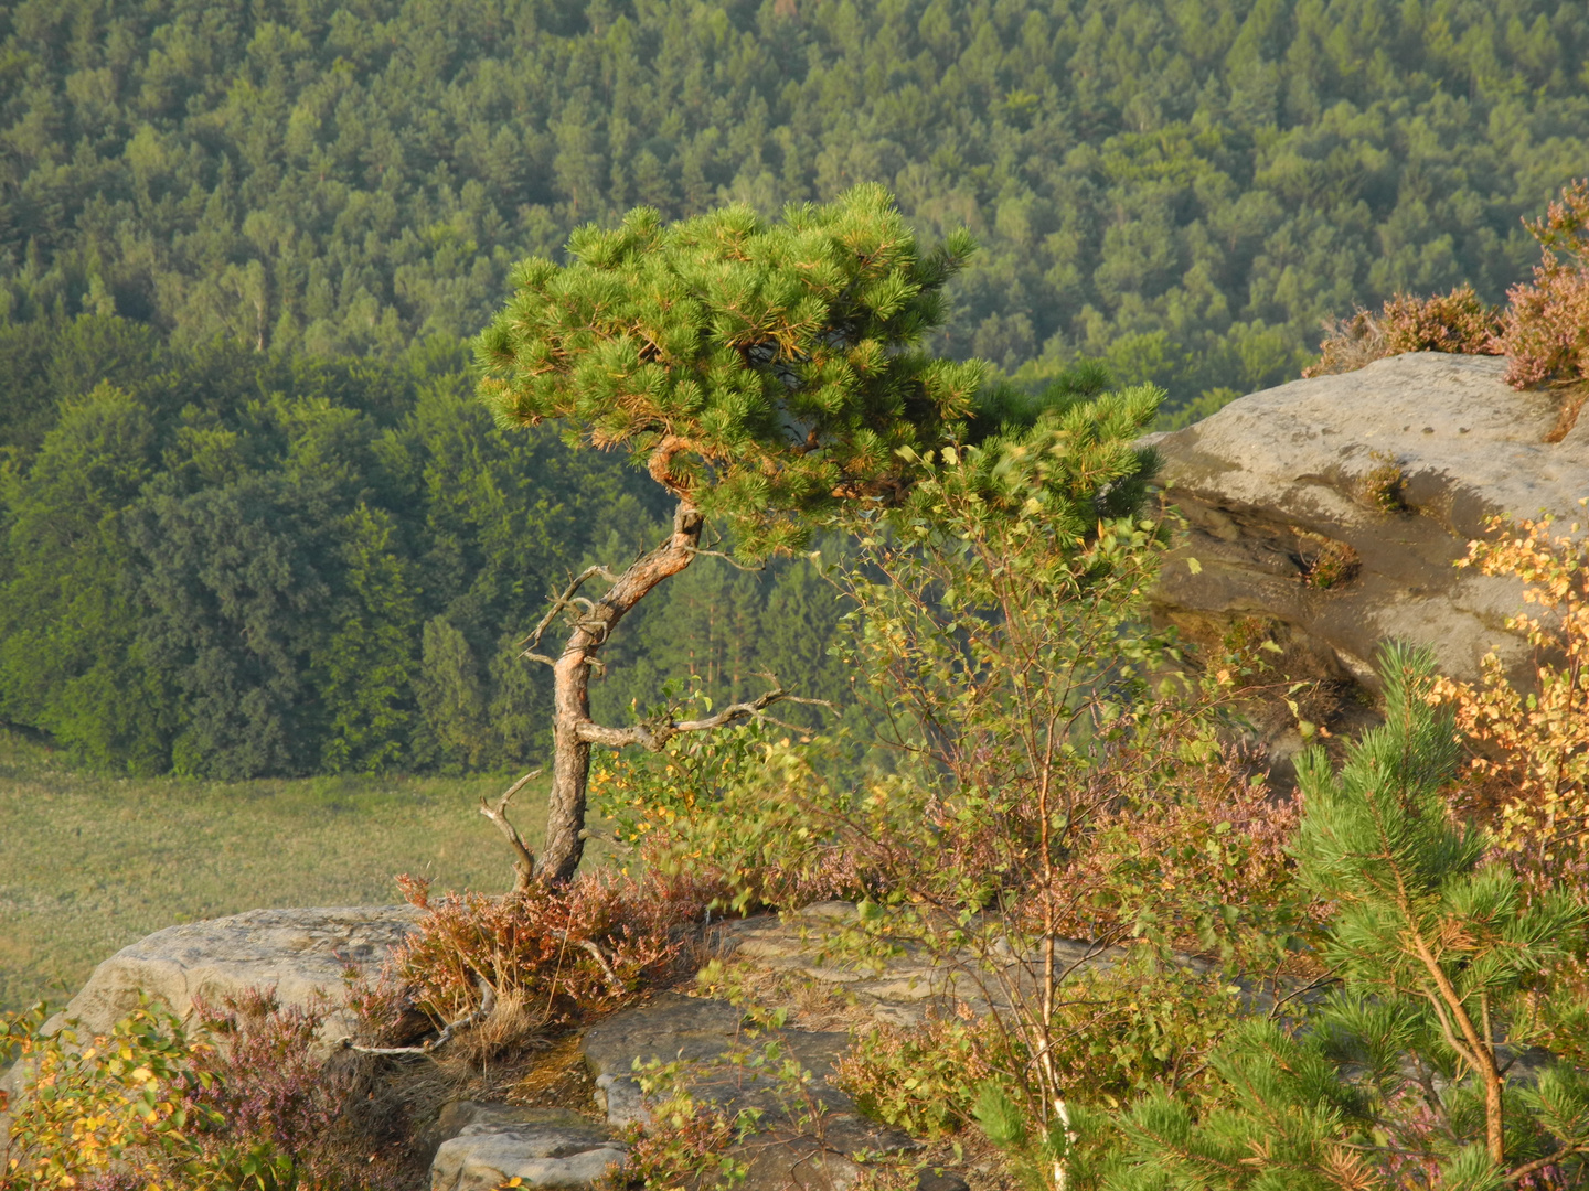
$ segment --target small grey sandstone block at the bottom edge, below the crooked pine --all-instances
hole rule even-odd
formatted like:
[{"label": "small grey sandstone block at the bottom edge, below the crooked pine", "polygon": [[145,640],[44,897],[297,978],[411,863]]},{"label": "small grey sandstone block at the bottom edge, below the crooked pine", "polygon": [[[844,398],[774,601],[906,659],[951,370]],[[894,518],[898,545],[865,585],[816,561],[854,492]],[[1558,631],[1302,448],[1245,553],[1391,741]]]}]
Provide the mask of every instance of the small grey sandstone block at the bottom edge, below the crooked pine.
[{"label": "small grey sandstone block at the bottom edge, below the crooked pine", "polygon": [[586,1188],[624,1158],[620,1143],[590,1126],[480,1121],[442,1142],[431,1162],[431,1191],[491,1191],[510,1178]]}]

